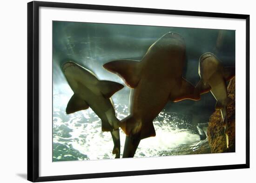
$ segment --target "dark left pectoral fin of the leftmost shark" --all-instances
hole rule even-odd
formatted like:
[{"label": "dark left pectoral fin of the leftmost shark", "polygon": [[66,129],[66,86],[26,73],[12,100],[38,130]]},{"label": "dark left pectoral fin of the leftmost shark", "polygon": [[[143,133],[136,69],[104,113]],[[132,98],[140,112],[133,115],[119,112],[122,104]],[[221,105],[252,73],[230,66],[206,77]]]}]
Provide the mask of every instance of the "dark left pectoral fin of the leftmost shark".
[{"label": "dark left pectoral fin of the leftmost shark", "polygon": [[71,114],[88,108],[88,103],[74,94],[67,103],[66,113]]}]

